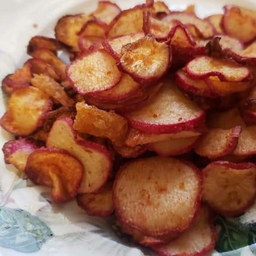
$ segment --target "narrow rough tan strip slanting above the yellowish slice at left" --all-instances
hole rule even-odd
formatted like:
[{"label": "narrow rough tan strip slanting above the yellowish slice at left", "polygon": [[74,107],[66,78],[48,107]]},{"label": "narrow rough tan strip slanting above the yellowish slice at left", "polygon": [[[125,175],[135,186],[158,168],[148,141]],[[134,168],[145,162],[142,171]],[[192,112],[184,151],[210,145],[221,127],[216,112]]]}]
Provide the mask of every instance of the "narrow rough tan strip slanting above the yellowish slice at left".
[{"label": "narrow rough tan strip slanting above the yellowish slice at left", "polygon": [[45,92],[63,106],[75,105],[74,100],[71,99],[64,91],[64,87],[49,76],[34,75],[34,77],[31,79],[31,84]]}]

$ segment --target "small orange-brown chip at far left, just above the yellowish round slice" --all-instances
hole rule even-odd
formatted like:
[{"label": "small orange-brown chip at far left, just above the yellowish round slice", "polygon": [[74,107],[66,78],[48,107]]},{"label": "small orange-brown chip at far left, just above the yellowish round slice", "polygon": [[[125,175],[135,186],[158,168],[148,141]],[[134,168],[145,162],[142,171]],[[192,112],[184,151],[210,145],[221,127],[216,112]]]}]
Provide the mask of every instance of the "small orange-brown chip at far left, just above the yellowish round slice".
[{"label": "small orange-brown chip at far left, just above the yellowish round slice", "polygon": [[3,79],[2,90],[7,95],[11,95],[15,89],[29,87],[31,78],[31,65],[25,63],[21,69],[18,69],[15,73],[6,76]]}]

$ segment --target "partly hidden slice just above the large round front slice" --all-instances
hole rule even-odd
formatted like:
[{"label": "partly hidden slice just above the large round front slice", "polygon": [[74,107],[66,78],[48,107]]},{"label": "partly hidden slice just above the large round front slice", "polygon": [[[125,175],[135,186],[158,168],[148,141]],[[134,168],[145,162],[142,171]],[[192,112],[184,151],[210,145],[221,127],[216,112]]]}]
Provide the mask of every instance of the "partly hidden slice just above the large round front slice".
[{"label": "partly hidden slice just above the large round front slice", "polygon": [[154,142],[146,144],[150,151],[154,151],[161,157],[177,156],[193,149],[198,137],[169,139],[163,142]]}]

